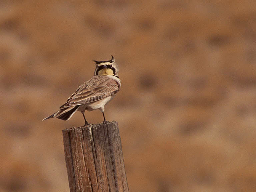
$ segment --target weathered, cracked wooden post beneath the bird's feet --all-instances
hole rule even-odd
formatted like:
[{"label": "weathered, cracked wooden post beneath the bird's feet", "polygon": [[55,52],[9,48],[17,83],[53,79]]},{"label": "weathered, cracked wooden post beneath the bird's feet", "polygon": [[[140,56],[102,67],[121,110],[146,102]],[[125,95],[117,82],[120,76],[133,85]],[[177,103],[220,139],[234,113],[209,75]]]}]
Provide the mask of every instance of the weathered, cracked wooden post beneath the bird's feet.
[{"label": "weathered, cracked wooden post beneath the bird's feet", "polygon": [[129,192],[117,122],[62,133],[70,192]]}]

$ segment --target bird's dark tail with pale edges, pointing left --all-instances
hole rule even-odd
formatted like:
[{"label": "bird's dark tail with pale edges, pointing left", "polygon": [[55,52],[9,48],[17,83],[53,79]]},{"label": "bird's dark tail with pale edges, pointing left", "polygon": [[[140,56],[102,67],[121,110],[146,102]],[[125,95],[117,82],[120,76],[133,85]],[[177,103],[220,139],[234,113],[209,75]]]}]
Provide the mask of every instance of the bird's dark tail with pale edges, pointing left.
[{"label": "bird's dark tail with pale edges, pointing left", "polygon": [[81,105],[76,105],[76,106],[60,109],[56,113],[50,115],[49,117],[44,118],[43,121],[46,119],[54,118],[54,117],[58,119],[62,119],[64,121],[69,120],[80,106]]}]

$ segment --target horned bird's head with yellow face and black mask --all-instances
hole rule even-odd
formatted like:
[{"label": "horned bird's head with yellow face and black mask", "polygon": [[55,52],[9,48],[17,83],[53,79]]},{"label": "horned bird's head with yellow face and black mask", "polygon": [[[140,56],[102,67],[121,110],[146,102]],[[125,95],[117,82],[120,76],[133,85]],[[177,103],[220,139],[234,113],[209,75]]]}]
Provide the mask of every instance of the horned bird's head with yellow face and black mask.
[{"label": "horned bird's head with yellow face and black mask", "polygon": [[[112,55],[111,55],[112,56]],[[118,66],[115,63],[115,58],[112,56],[111,60],[108,61],[95,61],[96,69],[94,75],[118,75]]]}]

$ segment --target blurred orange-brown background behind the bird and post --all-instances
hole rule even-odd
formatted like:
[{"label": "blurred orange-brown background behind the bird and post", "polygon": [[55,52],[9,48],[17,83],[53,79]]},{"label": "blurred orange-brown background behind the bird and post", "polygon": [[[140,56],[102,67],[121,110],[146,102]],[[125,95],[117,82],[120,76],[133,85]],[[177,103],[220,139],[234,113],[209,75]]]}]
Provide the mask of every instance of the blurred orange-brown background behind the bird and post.
[{"label": "blurred orange-brown background behind the bird and post", "polygon": [[69,192],[83,117],[41,120],[111,55],[130,192],[256,191],[256,1],[2,0],[1,192]]}]

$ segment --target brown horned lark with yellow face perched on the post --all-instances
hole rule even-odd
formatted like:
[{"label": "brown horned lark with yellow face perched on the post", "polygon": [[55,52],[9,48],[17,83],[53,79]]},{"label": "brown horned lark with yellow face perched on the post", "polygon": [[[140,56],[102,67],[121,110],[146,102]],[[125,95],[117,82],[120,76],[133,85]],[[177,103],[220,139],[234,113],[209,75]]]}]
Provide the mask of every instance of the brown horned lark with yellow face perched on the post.
[{"label": "brown horned lark with yellow face perched on the post", "polygon": [[104,115],[104,106],[116,96],[121,87],[118,65],[113,56],[111,60],[93,61],[96,65],[94,76],[81,84],[57,112],[43,120],[50,118],[69,120],[76,111],[80,111],[83,114],[86,126],[89,123],[84,116],[84,112],[99,109],[104,118],[102,123],[108,122]]}]

